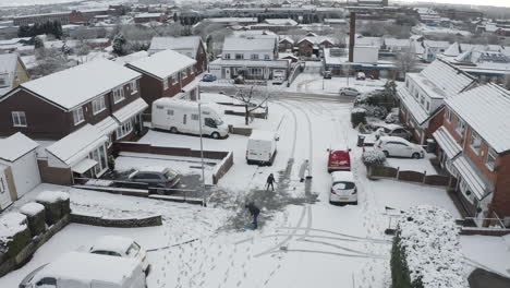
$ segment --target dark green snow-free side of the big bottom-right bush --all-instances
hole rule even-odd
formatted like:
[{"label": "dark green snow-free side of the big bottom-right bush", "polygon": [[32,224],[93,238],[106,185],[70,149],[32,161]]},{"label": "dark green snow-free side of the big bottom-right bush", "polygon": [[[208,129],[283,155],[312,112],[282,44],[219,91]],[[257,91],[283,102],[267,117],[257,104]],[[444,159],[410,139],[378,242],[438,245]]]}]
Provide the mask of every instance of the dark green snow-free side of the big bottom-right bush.
[{"label": "dark green snow-free side of the big bottom-right bush", "polygon": [[405,251],[400,248],[400,232],[397,232],[391,247],[391,288],[423,288],[420,279],[411,281],[411,274],[405,261]]}]

